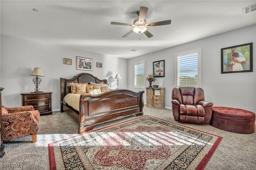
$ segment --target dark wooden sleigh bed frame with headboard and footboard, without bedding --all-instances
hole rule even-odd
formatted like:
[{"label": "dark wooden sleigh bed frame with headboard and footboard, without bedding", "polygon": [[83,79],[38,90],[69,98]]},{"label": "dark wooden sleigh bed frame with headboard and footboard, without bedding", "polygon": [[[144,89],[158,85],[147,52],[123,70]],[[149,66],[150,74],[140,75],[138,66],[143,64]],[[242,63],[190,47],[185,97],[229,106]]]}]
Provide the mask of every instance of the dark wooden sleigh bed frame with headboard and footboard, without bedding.
[{"label": "dark wooden sleigh bed frame with headboard and footboard, without bedding", "polygon": [[143,93],[117,89],[99,95],[81,94],[80,111],[76,111],[65,103],[64,97],[71,93],[70,83],[108,83],[106,79],[100,80],[89,73],[80,73],[72,79],[60,78],[60,112],[66,112],[79,125],[78,133],[91,130],[94,126],[128,117],[130,115],[143,115]]}]

